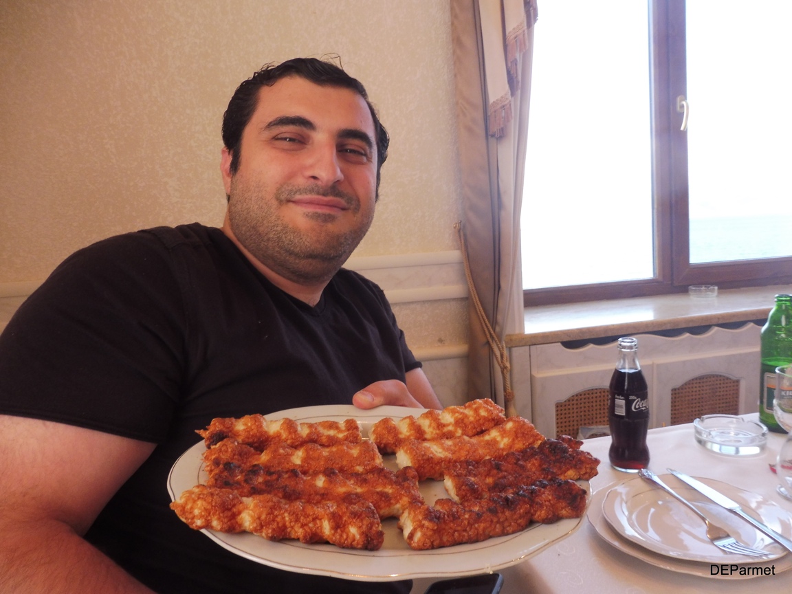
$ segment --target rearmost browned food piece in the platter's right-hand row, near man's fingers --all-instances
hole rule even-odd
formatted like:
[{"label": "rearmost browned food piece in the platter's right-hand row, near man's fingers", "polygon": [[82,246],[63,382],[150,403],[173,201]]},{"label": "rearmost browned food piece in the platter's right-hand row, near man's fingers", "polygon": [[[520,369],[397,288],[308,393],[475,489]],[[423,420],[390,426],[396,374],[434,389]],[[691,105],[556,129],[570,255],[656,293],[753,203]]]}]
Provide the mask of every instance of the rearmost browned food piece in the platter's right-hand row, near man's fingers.
[{"label": "rearmost browned food piece in the platter's right-hand row, near man's fingers", "polygon": [[418,417],[394,421],[385,417],[371,426],[369,438],[383,454],[392,454],[404,440],[447,440],[451,437],[472,437],[501,425],[504,410],[489,398],[467,402],[463,406],[447,406],[443,410],[427,410]]}]

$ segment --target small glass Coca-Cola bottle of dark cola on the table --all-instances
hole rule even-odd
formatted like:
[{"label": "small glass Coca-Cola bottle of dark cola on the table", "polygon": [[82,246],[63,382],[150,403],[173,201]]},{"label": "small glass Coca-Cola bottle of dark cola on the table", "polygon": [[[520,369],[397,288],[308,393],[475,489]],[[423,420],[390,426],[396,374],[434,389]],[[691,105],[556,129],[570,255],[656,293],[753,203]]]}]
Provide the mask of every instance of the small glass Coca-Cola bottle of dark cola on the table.
[{"label": "small glass Coca-Cola bottle of dark cola on the table", "polygon": [[616,470],[638,472],[649,466],[649,389],[638,364],[638,340],[619,338],[619,361],[611,375],[607,418],[611,426],[608,457]]}]

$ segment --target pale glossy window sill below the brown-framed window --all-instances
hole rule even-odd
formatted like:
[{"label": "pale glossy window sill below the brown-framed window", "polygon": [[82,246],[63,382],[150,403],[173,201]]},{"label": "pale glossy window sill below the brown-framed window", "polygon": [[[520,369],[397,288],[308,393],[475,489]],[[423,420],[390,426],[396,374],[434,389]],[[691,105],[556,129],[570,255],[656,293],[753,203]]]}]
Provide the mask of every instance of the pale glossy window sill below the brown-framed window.
[{"label": "pale glossy window sill below the brown-framed window", "polygon": [[506,346],[763,320],[778,293],[792,293],[792,285],[728,289],[718,291],[718,296],[713,298],[694,298],[681,293],[526,307],[524,333],[509,334]]}]

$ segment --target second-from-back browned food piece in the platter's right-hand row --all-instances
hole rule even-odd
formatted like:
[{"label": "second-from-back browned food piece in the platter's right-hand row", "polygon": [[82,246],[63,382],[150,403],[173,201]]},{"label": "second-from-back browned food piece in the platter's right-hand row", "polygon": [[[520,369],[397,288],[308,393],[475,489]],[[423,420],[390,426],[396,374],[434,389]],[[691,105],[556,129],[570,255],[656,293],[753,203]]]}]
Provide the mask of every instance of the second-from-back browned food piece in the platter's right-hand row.
[{"label": "second-from-back browned food piece in the platter's right-hand row", "polygon": [[501,458],[508,451],[524,450],[540,444],[544,436],[530,421],[509,417],[501,425],[473,437],[454,437],[449,440],[403,441],[396,449],[399,468],[413,466],[418,478],[442,481],[445,468],[464,460]]}]

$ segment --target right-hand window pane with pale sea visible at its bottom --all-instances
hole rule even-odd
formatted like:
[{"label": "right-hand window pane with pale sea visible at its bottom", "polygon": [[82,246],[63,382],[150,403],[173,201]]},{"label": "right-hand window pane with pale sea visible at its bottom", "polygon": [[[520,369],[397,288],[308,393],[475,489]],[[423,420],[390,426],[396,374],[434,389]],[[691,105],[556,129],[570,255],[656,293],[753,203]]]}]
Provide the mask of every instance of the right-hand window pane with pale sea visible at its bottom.
[{"label": "right-hand window pane with pale sea visible at its bottom", "polygon": [[790,256],[792,2],[689,0],[686,18],[691,263]]}]

